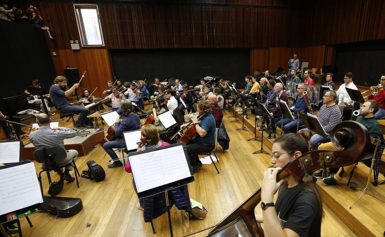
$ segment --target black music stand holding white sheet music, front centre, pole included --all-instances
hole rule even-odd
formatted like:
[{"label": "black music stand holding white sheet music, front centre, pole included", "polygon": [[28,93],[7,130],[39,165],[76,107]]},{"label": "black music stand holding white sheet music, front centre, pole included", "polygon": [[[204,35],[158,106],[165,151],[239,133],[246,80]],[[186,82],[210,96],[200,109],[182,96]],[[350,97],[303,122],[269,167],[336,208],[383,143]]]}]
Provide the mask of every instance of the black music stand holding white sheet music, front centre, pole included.
[{"label": "black music stand holding white sheet music, front centre, pole included", "polygon": [[139,151],[129,154],[128,159],[139,198],[164,192],[170,235],[173,237],[167,191],[195,181],[186,145],[176,143]]}]

